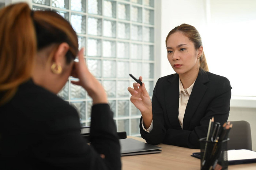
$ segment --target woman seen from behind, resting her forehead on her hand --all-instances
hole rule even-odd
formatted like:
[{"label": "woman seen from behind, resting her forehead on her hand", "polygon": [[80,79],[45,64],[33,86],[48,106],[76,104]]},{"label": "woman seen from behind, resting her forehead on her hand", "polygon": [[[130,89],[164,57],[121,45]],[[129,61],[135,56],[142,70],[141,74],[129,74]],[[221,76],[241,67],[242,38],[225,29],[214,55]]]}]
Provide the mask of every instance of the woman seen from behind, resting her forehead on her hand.
[{"label": "woman seen from behind, resting her forehead on her hand", "polygon": [[[1,9],[0,23],[0,169],[121,169],[106,92],[68,21],[19,3]],[[90,146],[78,112],[56,95],[70,75],[93,99]]]}]

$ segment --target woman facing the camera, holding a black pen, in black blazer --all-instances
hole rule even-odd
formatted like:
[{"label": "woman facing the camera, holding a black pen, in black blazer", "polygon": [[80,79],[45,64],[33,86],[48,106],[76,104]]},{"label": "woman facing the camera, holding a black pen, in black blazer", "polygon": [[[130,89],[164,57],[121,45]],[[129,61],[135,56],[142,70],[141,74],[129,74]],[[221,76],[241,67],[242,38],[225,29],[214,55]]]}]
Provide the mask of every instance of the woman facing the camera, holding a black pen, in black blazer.
[{"label": "woman facing the camera, holding a black pen, in black blazer", "polygon": [[[176,74],[159,78],[152,102],[144,83],[128,87],[140,110],[140,134],[150,144],[200,149],[209,120],[223,124],[230,110],[227,78],[208,72],[203,44],[195,27],[181,24],[166,37],[167,59]],[[142,81],[142,76],[139,78]]]}]

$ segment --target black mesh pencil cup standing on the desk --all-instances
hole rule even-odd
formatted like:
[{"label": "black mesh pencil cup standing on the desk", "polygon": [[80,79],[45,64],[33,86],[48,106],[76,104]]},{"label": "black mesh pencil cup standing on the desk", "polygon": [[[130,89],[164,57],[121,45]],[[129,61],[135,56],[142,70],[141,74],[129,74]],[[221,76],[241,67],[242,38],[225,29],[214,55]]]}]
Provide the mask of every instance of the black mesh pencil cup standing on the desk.
[{"label": "black mesh pencil cup standing on the desk", "polygon": [[218,169],[226,170],[227,162],[227,141],[229,138],[220,141],[207,141],[206,138],[199,139],[201,149],[201,170]]}]

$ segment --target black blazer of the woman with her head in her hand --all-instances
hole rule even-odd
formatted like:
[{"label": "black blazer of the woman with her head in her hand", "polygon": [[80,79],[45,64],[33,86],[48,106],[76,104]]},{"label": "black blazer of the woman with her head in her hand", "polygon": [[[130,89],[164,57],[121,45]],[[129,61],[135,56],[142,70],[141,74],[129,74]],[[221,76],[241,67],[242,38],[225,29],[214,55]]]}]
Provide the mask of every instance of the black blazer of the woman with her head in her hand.
[{"label": "black blazer of the woman with her head in her hand", "polygon": [[89,146],[74,107],[32,80],[20,85],[0,107],[0,169],[121,169],[109,105],[96,104],[91,112]]}]

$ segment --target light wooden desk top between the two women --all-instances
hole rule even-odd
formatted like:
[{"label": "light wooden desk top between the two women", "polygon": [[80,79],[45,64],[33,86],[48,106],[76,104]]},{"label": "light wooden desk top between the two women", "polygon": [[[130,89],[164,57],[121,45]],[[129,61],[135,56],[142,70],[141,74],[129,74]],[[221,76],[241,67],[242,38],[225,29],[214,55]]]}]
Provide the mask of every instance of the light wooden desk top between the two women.
[{"label": "light wooden desk top between the two women", "polygon": [[[138,137],[133,138],[145,142]],[[162,147],[161,153],[123,156],[122,170],[200,170],[200,159],[191,157],[193,152],[199,152],[199,149],[188,149],[184,147],[159,144]],[[229,170],[255,170],[256,163],[230,165]]]}]

